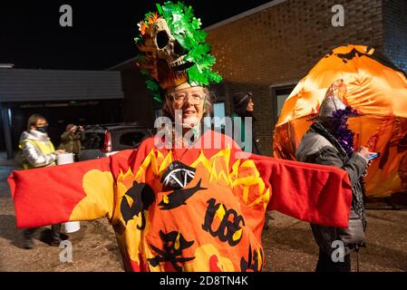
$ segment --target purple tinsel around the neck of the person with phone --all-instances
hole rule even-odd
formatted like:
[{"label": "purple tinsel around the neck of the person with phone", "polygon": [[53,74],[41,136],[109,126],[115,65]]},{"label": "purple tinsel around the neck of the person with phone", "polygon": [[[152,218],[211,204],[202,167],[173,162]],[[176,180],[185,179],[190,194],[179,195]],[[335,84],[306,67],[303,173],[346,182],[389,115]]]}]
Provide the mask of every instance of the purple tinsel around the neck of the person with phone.
[{"label": "purple tinsel around the neck of the person with phone", "polygon": [[336,110],[333,113],[332,127],[334,129],[334,137],[348,154],[354,152],[354,132],[348,129],[347,119],[355,116],[359,116],[359,114],[351,106],[347,106],[344,110]]}]

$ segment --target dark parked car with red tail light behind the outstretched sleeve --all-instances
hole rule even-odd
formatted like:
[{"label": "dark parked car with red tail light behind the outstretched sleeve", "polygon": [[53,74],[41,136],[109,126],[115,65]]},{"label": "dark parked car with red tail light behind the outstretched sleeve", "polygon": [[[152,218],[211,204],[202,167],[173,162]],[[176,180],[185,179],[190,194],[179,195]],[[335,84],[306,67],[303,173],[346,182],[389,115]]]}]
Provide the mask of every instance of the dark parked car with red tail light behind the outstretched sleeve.
[{"label": "dark parked car with red tail light behind the outstretched sleeve", "polygon": [[153,130],[138,123],[114,123],[84,126],[85,140],[79,160],[94,160],[121,150],[136,149]]}]

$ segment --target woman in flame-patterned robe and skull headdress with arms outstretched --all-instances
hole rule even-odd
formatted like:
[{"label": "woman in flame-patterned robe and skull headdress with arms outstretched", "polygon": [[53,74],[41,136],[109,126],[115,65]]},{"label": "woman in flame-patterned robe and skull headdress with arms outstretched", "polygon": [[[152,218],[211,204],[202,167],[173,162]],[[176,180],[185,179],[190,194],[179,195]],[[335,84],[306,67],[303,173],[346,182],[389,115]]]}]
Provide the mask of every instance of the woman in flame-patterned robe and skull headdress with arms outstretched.
[{"label": "woman in flame-patterned robe and skull headdress with arms outstretched", "polygon": [[[260,271],[266,210],[347,227],[344,170],[247,156],[205,130],[206,86],[220,81],[205,32],[190,7],[157,7],[137,44],[147,85],[164,102],[159,134],[109,158],[14,171],[17,227],[108,218],[128,271]],[[39,175],[41,184],[33,181]]]}]

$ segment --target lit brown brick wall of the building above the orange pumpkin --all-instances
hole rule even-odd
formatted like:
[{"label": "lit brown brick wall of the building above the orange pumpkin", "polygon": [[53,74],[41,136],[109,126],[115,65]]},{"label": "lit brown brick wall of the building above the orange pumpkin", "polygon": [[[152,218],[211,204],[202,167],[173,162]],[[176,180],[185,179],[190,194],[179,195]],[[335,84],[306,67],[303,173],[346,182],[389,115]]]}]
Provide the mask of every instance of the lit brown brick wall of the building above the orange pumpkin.
[{"label": "lit brown brick wall of the building above the orange pumpkin", "polygon": [[[344,5],[344,27],[331,24],[331,8],[337,4]],[[270,155],[275,110],[270,86],[299,81],[336,46],[367,44],[383,50],[382,17],[382,0],[287,0],[209,30],[228,113],[233,92],[254,92],[257,134]]]}]

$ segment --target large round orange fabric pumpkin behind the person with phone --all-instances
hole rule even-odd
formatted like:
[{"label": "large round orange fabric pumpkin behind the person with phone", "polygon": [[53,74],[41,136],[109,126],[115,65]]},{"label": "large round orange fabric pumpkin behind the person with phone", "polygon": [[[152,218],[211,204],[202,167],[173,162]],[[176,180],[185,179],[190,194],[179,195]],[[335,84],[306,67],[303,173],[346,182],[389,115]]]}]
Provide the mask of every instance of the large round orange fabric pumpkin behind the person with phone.
[{"label": "large round orange fabric pumpkin behind the person with phone", "polygon": [[296,85],[276,124],[275,156],[296,160],[296,147],[310,119],[338,79],[347,87],[344,102],[363,114],[349,119],[355,148],[365,146],[381,153],[365,178],[367,196],[407,191],[407,78],[372,47],[338,47]]}]

